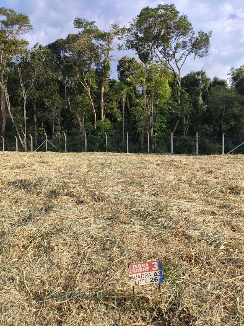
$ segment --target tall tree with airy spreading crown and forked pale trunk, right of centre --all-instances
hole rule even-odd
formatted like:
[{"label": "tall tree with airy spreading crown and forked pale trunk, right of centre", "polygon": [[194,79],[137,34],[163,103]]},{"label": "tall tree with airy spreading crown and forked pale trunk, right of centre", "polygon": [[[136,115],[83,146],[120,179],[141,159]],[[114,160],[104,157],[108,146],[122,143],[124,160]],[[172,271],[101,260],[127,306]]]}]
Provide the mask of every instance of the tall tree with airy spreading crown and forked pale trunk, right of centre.
[{"label": "tall tree with airy spreading crown and forked pale trunk, right of centre", "polygon": [[181,69],[188,56],[194,59],[208,54],[211,31],[199,31],[197,36],[186,15],[180,15],[173,4],[156,8],[161,29],[156,42],[156,54],[174,74],[180,104]]}]

